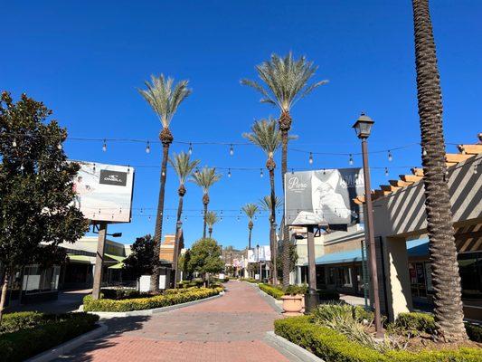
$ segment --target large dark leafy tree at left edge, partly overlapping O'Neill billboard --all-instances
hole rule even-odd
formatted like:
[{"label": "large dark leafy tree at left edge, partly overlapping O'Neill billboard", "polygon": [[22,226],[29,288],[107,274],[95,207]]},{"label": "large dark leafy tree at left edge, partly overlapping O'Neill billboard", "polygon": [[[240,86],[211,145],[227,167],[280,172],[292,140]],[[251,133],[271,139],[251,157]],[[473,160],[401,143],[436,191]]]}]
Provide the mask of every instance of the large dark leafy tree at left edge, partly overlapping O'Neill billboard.
[{"label": "large dark leafy tree at left edge, partly overlapping O'Neill billboard", "polygon": [[67,138],[42,102],[25,94],[14,103],[0,99],[0,262],[4,280],[0,322],[12,273],[37,262],[57,259],[59,243],[74,243],[88,230],[73,205],[73,178],[79,165],[67,162]]}]

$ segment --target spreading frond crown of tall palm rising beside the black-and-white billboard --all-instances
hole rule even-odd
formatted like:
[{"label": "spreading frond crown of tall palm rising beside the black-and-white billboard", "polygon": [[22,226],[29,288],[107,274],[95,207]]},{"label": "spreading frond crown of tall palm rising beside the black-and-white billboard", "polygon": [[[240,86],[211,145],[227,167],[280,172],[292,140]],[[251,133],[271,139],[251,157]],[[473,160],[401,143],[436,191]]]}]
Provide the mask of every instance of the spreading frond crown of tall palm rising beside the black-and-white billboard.
[{"label": "spreading frond crown of tall palm rising beside the black-and-white billboard", "polygon": [[283,111],[289,111],[298,100],[327,82],[308,84],[315,75],[317,66],[308,62],[304,56],[296,60],[292,52],[284,57],[271,54],[269,61],[256,66],[256,71],[264,86],[247,79],[241,80],[241,84],[258,90],[263,96],[260,100],[262,103],[278,105]]}]

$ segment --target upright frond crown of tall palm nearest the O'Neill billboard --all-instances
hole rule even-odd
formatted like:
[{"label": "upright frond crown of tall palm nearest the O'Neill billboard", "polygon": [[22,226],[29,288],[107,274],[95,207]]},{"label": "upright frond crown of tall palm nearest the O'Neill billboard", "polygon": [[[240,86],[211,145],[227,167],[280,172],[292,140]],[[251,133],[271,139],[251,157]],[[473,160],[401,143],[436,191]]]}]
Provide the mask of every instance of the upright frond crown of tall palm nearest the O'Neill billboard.
[{"label": "upright frond crown of tall palm nearest the O'Neill billboard", "polygon": [[168,128],[175,111],[193,90],[187,88],[189,81],[179,81],[173,89],[174,79],[164,74],[159,77],[151,75],[151,81],[146,81],[146,90],[138,92],[156,112],[164,128]]}]

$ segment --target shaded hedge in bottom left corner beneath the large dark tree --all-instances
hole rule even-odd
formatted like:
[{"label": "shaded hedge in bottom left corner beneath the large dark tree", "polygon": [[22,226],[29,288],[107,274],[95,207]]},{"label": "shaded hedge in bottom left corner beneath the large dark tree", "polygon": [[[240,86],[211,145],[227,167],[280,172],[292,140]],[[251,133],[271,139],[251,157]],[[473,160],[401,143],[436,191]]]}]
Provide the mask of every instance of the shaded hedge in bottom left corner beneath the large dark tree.
[{"label": "shaded hedge in bottom left corner beneath the large dark tree", "polygon": [[[95,323],[99,320],[98,316],[87,313],[70,313],[59,316],[43,315],[42,313],[36,313],[35,316],[32,313],[28,316],[18,316],[18,314],[5,315],[5,319],[10,319],[10,322],[17,319],[16,325],[23,327],[14,332],[0,335],[0,360],[2,361],[24,361],[95,329]],[[39,317],[39,314],[43,318]],[[33,320],[37,323],[36,326],[32,326]]]}]

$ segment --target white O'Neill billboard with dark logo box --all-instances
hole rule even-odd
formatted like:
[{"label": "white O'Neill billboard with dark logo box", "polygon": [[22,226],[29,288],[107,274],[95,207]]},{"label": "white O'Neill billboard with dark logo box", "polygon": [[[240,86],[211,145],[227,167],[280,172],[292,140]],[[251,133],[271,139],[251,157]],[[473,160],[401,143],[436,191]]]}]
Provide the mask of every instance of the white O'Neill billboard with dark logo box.
[{"label": "white O'Neill billboard with dark logo box", "polygon": [[92,222],[130,223],[134,168],[75,161],[74,205]]}]

